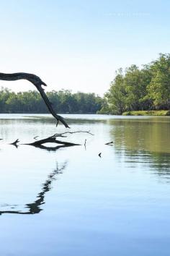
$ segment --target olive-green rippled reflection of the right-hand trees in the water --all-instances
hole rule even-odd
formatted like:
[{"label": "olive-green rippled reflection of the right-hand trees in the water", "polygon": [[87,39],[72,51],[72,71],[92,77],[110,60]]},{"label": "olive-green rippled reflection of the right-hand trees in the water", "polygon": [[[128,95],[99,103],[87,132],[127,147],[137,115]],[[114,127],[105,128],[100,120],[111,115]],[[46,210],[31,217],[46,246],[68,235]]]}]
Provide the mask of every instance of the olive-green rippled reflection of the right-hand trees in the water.
[{"label": "olive-green rippled reflection of the right-hand trees in the water", "polygon": [[110,120],[111,139],[120,161],[130,168],[150,168],[170,179],[170,122],[167,118]]}]

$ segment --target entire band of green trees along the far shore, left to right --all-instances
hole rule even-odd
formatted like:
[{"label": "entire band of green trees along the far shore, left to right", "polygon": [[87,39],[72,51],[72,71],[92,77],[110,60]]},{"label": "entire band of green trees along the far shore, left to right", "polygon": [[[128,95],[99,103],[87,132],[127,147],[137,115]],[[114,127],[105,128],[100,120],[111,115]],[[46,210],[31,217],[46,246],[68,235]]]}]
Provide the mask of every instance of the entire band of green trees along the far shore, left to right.
[{"label": "entire band of green trees along the far shore, left to right", "polygon": [[[118,69],[104,98],[70,90],[53,90],[47,95],[57,113],[149,114],[147,111],[170,110],[170,54],[160,54],[141,69],[136,65],[125,71]],[[48,113],[48,108],[36,90],[14,93],[1,88],[0,113]]]}]

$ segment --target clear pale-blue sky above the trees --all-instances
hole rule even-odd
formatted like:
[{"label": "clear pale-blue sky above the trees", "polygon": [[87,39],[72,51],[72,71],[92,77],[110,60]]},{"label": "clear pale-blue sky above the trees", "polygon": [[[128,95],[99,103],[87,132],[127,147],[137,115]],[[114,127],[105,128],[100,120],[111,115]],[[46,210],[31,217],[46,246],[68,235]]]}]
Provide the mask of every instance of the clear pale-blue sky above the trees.
[{"label": "clear pale-blue sky above the trees", "polygon": [[[0,72],[37,74],[46,90],[103,95],[115,71],[170,53],[170,1],[0,0]],[[0,81],[15,92],[30,82]]]}]

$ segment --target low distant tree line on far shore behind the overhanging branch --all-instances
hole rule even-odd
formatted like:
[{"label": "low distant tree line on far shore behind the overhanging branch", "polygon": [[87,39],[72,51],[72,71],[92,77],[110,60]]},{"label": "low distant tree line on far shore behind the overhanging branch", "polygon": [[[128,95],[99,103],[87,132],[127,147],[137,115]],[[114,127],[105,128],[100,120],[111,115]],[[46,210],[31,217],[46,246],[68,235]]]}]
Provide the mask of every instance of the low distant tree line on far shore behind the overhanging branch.
[{"label": "low distant tree line on far shore behind the overhanging branch", "polygon": [[[55,90],[47,93],[57,113],[96,113],[102,106],[102,98],[94,93],[71,93]],[[40,93],[28,91],[14,93],[6,88],[0,90],[0,113],[49,113]]]}]

